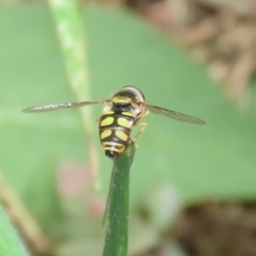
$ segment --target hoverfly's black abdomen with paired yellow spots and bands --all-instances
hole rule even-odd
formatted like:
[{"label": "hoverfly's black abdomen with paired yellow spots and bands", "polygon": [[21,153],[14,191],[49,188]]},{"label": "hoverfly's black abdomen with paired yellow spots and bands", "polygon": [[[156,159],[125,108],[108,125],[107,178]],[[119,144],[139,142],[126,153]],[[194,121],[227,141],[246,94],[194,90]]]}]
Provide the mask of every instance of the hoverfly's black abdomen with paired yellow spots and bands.
[{"label": "hoverfly's black abdomen with paired yellow spots and bands", "polygon": [[100,138],[105,154],[117,158],[130,142],[134,118],[130,112],[108,111],[100,119]]}]

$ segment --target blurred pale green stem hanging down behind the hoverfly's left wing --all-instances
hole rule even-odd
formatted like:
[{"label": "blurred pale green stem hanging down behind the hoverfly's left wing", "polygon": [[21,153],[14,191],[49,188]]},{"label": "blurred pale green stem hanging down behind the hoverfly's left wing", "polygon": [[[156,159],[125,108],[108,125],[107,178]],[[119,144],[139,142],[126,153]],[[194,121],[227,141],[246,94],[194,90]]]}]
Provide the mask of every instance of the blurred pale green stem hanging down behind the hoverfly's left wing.
[{"label": "blurred pale green stem hanging down behind the hoverfly's left wing", "polygon": [[[67,77],[79,102],[89,101],[90,75],[86,47],[85,26],[78,0],[49,0],[55,18],[55,26],[60,38],[61,49],[67,69]],[[80,108],[87,145],[89,146],[90,166],[97,186],[98,156],[94,143],[94,129],[90,107]]]}]

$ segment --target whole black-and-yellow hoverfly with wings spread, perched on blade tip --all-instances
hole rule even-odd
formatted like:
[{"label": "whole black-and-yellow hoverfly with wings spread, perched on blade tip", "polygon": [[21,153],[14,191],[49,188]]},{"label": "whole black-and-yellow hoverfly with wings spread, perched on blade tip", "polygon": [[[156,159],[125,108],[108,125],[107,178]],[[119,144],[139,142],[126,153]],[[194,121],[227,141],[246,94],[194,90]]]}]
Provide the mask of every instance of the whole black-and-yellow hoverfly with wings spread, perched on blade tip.
[{"label": "whole black-and-yellow hoverfly with wings spread, perched on blade tip", "polygon": [[158,113],[177,121],[205,125],[206,122],[183,113],[160,108],[145,103],[143,92],[135,86],[125,86],[118,90],[109,99],[91,102],[68,102],[35,106],[23,109],[26,113],[48,112],[62,108],[80,108],[88,105],[102,103],[104,105],[102,116],[96,120],[99,125],[100,140],[105,154],[116,159],[131,142],[131,129],[133,126],[143,126],[134,137],[137,138],[147,127],[147,123],[139,122],[148,113]]}]

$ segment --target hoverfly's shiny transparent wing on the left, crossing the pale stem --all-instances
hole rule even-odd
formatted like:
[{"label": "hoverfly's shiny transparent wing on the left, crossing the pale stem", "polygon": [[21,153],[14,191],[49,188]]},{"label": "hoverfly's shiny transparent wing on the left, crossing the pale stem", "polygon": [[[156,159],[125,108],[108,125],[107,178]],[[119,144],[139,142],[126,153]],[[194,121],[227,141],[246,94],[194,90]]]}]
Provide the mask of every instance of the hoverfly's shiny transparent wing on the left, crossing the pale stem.
[{"label": "hoverfly's shiny transparent wing on the left, crossing the pale stem", "polygon": [[33,113],[33,112],[49,112],[54,111],[62,108],[80,108],[92,104],[98,104],[103,102],[68,102],[68,103],[57,103],[57,104],[48,104],[42,106],[34,106],[31,108],[25,108],[22,111],[26,113]]}]

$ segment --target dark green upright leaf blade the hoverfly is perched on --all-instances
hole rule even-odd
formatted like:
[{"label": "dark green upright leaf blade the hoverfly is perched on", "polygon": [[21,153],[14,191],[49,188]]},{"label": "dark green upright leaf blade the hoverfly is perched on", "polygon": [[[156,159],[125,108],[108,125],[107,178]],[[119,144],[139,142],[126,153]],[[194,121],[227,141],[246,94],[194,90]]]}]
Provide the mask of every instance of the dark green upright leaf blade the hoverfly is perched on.
[{"label": "dark green upright leaf blade the hoverfly is perched on", "polygon": [[113,163],[108,202],[104,217],[108,215],[108,230],[103,256],[125,256],[128,247],[129,181],[135,144],[130,143],[125,152]]}]

